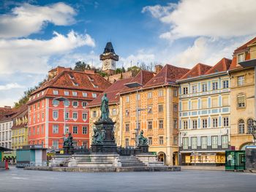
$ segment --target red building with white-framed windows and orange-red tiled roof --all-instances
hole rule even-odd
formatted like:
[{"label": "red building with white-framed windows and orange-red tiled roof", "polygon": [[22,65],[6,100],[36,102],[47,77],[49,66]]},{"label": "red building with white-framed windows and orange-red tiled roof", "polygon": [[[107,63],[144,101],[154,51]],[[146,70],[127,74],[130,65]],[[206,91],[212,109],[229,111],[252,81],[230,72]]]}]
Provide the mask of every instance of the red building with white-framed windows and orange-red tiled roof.
[{"label": "red building with white-framed windows and orange-red tiled roof", "polygon": [[29,145],[58,149],[71,132],[75,146],[88,147],[87,104],[110,85],[91,70],[76,72],[60,66],[50,70],[48,80],[29,98]]}]

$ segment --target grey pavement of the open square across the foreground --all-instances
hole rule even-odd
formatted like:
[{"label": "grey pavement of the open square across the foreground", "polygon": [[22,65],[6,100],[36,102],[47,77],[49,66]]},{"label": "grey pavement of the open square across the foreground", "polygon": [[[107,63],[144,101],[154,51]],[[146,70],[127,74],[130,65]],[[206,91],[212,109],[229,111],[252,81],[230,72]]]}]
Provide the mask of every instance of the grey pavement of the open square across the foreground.
[{"label": "grey pavement of the open square across the foreground", "polygon": [[0,191],[256,191],[256,174],[244,172],[46,172],[0,170]]}]

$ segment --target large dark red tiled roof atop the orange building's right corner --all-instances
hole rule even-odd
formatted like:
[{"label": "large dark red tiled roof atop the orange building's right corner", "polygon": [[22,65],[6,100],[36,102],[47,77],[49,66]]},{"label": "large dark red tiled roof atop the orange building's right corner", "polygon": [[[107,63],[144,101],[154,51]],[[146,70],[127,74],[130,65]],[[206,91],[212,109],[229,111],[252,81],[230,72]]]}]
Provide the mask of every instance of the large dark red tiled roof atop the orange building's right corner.
[{"label": "large dark red tiled roof atop the orange building's right corner", "polygon": [[143,88],[154,87],[157,85],[175,84],[176,80],[189,72],[189,69],[166,64],[161,71],[149,80]]}]

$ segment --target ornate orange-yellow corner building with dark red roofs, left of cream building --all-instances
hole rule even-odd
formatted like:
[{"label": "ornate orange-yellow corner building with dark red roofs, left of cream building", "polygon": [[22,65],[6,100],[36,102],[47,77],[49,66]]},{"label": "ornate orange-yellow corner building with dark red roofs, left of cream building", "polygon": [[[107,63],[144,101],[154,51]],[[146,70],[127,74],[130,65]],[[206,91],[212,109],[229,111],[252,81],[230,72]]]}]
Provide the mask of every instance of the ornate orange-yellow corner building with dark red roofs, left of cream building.
[{"label": "ornate orange-yellow corner building with dark red roofs, left of cream building", "polygon": [[129,82],[141,86],[125,88],[120,92],[120,134],[123,147],[135,147],[135,135],[143,130],[144,137],[148,138],[149,151],[156,153],[159,161],[165,161],[167,165],[178,164],[176,80],[186,72],[188,69],[171,65],[165,65],[155,76],[151,72],[141,71]]}]

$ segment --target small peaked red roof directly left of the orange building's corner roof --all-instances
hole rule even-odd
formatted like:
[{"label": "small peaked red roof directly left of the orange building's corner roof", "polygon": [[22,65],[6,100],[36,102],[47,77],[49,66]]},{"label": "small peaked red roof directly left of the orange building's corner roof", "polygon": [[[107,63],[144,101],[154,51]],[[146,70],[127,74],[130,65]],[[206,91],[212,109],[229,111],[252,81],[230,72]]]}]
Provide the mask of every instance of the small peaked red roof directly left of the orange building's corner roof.
[{"label": "small peaked red roof directly left of the orange building's corner roof", "polygon": [[[140,70],[138,74],[132,78],[129,82],[138,82],[140,85],[146,85],[146,83],[154,77],[154,72],[148,72],[145,70]],[[135,91],[138,88],[128,88],[125,87],[120,93],[126,93],[127,91]]]}]

